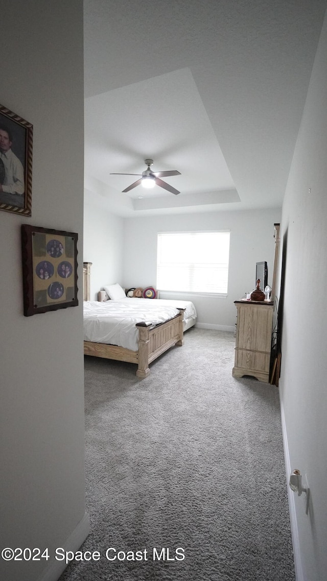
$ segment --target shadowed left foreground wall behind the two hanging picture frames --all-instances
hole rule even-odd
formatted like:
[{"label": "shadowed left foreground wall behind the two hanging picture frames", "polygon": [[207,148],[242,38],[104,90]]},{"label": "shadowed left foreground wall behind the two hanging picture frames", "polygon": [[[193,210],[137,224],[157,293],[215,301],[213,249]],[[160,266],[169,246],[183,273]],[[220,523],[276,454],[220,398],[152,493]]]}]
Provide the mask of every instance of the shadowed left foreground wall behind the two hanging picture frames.
[{"label": "shadowed left foreground wall behind the two hanging picture frames", "polygon": [[55,547],[88,532],[83,296],[24,317],[20,225],[77,232],[82,280],[83,2],[2,0],[1,44],[1,105],[34,129],[32,216],[0,210],[1,547],[48,548],[50,558],[2,559],[0,577],[50,581],[65,566]]}]

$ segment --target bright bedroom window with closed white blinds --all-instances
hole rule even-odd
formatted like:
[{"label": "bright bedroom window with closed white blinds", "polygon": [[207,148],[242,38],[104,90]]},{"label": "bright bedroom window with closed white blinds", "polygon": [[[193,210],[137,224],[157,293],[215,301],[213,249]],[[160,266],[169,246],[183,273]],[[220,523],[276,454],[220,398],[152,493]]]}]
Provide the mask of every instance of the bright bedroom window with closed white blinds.
[{"label": "bright bedroom window with closed white blinds", "polygon": [[159,232],[157,289],[227,294],[229,232]]}]

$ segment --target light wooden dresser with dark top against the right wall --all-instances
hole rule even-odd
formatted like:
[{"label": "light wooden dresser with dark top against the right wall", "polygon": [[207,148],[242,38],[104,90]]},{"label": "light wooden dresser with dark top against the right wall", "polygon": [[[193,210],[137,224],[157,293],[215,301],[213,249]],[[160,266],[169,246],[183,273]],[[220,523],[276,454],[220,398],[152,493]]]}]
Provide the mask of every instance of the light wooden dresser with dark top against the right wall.
[{"label": "light wooden dresser with dark top against the right wall", "polygon": [[233,377],[252,375],[269,383],[273,301],[236,300],[236,346]]}]

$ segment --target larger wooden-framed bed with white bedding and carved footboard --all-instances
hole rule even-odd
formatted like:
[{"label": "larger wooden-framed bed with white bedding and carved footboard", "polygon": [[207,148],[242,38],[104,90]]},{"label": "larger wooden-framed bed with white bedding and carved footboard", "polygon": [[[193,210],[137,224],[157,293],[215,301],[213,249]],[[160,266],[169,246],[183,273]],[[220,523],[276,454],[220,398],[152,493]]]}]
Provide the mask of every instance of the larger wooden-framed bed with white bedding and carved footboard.
[{"label": "larger wooden-framed bed with white bedding and carved footboard", "polygon": [[147,377],[152,361],[183,345],[186,309],[164,299],[90,301],[90,268],[91,263],[84,263],[84,354],[135,363],[136,375]]}]

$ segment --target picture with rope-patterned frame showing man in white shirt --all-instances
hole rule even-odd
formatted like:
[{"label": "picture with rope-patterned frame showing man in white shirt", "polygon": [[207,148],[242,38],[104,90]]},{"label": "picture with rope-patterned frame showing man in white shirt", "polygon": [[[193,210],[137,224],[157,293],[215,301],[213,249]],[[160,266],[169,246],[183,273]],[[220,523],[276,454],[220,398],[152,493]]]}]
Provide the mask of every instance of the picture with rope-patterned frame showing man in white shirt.
[{"label": "picture with rope-patterned frame showing man in white shirt", "polygon": [[31,216],[33,125],[0,105],[0,210]]}]

